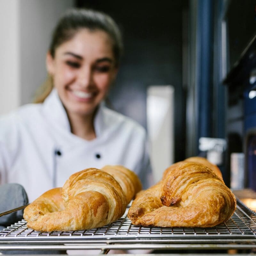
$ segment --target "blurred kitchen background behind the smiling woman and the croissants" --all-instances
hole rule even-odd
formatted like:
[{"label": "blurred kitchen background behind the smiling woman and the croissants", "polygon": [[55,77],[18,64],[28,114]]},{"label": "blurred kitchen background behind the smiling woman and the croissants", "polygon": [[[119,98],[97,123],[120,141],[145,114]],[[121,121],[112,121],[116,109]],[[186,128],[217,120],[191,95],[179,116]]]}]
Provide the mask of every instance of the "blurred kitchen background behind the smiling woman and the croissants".
[{"label": "blurred kitchen background behind the smiling woman and the croissants", "polygon": [[228,186],[239,172],[242,181],[232,186],[256,189],[255,6],[255,0],[0,1],[0,114],[33,101],[60,15],[70,7],[103,11],[124,36],[107,104],[147,129],[155,179],[173,162],[201,155],[219,165]]}]

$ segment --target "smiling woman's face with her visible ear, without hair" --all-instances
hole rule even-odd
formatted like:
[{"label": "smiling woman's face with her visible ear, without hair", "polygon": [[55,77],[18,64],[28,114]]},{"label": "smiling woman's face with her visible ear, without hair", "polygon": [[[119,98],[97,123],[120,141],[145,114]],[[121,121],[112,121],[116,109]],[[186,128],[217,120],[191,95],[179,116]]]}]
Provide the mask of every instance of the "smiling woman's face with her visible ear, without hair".
[{"label": "smiling woman's face with her visible ear, without hair", "polygon": [[47,54],[47,70],[69,115],[93,114],[106,96],[117,72],[112,46],[106,32],[82,29],[54,58]]}]

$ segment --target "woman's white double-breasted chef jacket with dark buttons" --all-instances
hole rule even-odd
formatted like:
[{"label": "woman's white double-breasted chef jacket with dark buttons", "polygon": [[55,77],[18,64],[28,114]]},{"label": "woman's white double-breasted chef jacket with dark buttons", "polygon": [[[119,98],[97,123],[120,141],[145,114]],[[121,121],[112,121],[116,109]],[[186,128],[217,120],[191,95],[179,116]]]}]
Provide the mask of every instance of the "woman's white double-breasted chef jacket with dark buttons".
[{"label": "woman's white double-breasted chef jacket with dark buttons", "polygon": [[56,89],[44,103],[0,117],[0,183],[21,184],[32,202],[75,172],[121,164],[139,175],[144,188],[151,185],[145,129],[103,105],[94,127],[94,140],[71,133]]}]

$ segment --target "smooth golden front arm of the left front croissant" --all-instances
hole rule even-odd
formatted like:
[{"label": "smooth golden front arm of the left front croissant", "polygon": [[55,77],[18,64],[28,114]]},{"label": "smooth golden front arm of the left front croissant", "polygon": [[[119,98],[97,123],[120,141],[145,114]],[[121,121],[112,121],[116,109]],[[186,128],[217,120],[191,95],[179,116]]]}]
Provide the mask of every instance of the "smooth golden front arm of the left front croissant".
[{"label": "smooth golden front arm of the left front croissant", "polygon": [[46,212],[27,226],[38,231],[72,231],[104,226],[108,202],[97,191],[82,192],[70,200],[62,211]]}]

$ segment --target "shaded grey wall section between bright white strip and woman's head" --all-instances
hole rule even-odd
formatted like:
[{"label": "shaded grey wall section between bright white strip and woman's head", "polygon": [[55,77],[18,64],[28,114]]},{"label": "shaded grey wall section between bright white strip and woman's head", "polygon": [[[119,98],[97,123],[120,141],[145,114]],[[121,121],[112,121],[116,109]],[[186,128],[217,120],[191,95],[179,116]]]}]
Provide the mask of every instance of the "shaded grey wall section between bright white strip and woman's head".
[{"label": "shaded grey wall section between bright white strip and woman's head", "polygon": [[52,29],[73,0],[20,0],[21,104],[31,102],[46,78],[45,55]]}]

